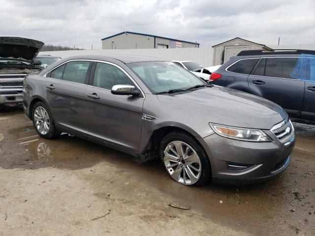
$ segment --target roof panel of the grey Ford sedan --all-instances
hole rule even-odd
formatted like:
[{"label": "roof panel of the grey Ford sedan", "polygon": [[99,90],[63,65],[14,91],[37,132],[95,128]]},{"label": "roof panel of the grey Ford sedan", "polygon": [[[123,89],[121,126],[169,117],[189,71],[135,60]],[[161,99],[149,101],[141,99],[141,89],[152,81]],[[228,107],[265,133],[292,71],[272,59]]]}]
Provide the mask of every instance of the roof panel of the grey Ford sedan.
[{"label": "roof panel of the grey Ford sedan", "polygon": [[73,56],[67,57],[66,60],[70,59],[91,59],[91,60],[107,60],[107,59],[116,59],[121,62],[127,64],[132,62],[143,62],[143,61],[167,61],[166,59],[155,58],[155,57],[147,57],[147,56],[134,56],[134,55],[81,55],[81,56]]}]

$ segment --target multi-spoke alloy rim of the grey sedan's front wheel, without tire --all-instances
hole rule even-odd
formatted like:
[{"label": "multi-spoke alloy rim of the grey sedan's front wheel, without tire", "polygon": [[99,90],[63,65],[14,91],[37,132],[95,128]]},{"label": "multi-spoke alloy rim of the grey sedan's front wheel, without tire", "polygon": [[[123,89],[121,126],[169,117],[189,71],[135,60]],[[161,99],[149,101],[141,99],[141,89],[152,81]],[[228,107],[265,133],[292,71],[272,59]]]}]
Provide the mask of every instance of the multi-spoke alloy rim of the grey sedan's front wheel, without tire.
[{"label": "multi-spoke alloy rim of the grey sedan's front wheel, without tire", "polygon": [[164,149],[164,165],[177,182],[191,185],[201,175],[201,161],[197,152],[182,141],[173,141]]}]

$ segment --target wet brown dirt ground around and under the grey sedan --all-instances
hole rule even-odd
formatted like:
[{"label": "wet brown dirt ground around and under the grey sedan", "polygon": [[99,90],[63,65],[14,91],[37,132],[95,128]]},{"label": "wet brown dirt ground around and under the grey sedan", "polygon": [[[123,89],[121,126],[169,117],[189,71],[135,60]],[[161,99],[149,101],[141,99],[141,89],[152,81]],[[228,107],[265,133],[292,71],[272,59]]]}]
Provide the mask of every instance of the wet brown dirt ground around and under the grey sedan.
[{"label": "wet brown dirt ground around and under the grey sedan", "polygon": [[158,161],[67,134],[42,139],[22,109],[0,108],[0,235],[314,236],[315,126],[294,127],[292,161],[280,176],[187,187]]}]

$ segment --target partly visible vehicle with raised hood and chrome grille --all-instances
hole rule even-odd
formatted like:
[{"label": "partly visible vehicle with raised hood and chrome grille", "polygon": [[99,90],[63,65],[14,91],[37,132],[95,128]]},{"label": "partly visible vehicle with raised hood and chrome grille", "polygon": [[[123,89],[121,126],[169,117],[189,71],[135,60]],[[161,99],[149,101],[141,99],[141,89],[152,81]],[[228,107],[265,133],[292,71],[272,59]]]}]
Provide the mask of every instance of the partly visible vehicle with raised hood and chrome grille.
[{"label": "partly visible vehicle with raised hood and chrome grille", "polygon": [[30,38],[0,36],[0,105],[23,102],[23,80],[41,70],[34,58],[43,45]]}]

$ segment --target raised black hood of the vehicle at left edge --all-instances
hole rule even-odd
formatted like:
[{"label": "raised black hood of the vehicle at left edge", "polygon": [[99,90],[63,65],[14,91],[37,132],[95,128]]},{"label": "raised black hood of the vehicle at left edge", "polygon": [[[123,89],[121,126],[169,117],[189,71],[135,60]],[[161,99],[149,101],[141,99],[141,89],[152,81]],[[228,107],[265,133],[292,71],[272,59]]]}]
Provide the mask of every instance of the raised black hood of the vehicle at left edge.
[{"label": "raised black hood of the vehicle at left edge", "polygon": [[0,58],[33,60],[42,46],[43,42],[30,38],[0,36]]}]

